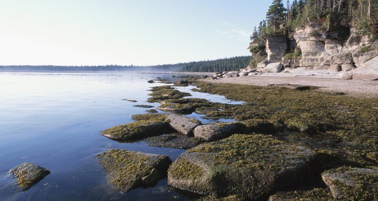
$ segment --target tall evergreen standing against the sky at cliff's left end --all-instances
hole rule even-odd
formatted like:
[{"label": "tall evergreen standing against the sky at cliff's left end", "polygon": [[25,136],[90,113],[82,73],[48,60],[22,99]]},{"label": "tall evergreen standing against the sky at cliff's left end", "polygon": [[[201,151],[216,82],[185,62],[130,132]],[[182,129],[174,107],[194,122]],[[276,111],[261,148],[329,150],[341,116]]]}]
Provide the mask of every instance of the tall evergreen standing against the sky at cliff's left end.
[{"label": "tall evergreen standing against the sky at cliff's left end", "polygon": [[280,25],[285,23],[286,9],[282,4],[282,0],[273,0],[272,5],[267,12],[268,28],[276,32]]}]

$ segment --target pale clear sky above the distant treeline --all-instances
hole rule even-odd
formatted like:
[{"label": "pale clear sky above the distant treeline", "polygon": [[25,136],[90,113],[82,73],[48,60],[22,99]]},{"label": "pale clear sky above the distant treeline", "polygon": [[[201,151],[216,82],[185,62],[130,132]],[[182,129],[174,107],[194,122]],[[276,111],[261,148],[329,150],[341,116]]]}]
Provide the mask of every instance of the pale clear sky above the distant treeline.
[{"label": "pale clear sky above the distant treeline", "polygon": [[0,65],[156,65],[250,55],[268,0],[0,0]]}]

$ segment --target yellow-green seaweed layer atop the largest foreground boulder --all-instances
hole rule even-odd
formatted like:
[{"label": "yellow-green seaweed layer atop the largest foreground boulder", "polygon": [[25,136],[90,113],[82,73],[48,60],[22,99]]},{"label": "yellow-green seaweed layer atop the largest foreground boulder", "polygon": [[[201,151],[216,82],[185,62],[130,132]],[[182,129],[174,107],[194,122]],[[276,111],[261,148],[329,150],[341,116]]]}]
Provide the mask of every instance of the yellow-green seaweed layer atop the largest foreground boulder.
[{"label": "yellow-green seaweed layer atop the largest foreground boulder", "polygon": [[217,153],[211,155],[214,166],[227,164],[270,171],[279,170],[295,158],[300,158],[297,154],[303,151],[303,147],[262,134],[232,135],[187,150],[188,153]]}]

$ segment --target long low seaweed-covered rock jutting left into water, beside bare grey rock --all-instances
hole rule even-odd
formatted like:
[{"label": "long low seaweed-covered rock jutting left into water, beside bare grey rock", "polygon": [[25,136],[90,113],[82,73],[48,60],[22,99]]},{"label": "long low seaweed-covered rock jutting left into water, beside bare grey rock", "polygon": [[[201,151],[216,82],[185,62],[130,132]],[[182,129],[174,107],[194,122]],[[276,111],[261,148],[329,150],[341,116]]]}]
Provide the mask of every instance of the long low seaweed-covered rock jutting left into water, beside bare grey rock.
[{"label": "long low seaweed-covered rock jutting left into water, beside bare grey rock", "polygon": [[169,130],[164,115],[145,114],[136,115],[133,118],[139,121],[105,129],[101,135],[114,140],[138,140],[160,135]]}]

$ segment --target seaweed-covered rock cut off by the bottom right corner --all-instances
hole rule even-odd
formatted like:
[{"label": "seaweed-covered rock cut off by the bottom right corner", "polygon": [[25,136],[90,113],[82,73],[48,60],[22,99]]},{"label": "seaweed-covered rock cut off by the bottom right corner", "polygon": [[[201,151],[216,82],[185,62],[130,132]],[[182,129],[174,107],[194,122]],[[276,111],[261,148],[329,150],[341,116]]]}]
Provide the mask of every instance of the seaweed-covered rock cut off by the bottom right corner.
[{"label": "seaweed-covered rock cut off by the bottom right corner", "polygon": [[322,178],[336,200],[378,200],[378,170],[340,167]]}]

